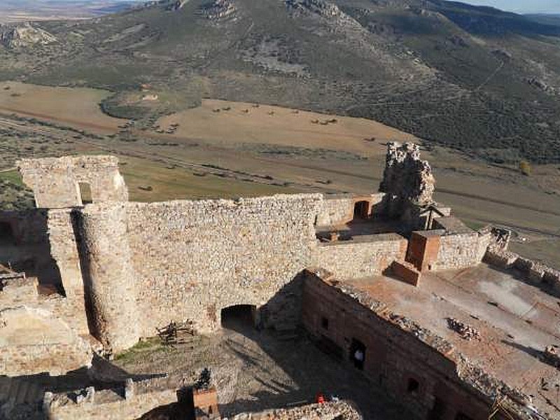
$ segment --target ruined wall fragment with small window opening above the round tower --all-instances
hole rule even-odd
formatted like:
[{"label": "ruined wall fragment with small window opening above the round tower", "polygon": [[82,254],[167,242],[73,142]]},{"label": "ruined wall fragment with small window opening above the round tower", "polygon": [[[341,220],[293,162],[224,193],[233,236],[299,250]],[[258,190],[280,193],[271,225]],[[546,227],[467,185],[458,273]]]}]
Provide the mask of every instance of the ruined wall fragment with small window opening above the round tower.
[{"label": "ruined wall fragment with small window opening above the round tower", "polygon": [[[17,162],[38,208],[57,209],[92,202],[123,202],[128,191],[113,156],[64,156]],[[81,189],[81,191],[80,191]],[[83,197],[84,191],[91,197]]]}]

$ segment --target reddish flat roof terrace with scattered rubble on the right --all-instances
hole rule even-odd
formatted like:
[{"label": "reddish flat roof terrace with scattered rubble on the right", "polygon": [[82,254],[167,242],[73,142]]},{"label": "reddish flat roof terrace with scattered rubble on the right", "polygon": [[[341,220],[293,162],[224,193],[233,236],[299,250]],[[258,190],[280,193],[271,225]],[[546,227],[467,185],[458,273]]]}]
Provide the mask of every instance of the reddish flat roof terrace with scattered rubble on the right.
[{"label": "reddish flat roof terrace with scattered rubble on the right", "polygon": [[[541,413],[560,416],[555,387],[560,385],[560,371],[542,361],[545,347],[560,344],[560,299],[552,291],[528,283],[516,270],[485,264],[423,273],[418,287],[388,276],[340,284],[367,293],[442,337],[486,373],[531,395]],[[475,328],[479,339],[464,339],[449,328],[447,318]]]}]

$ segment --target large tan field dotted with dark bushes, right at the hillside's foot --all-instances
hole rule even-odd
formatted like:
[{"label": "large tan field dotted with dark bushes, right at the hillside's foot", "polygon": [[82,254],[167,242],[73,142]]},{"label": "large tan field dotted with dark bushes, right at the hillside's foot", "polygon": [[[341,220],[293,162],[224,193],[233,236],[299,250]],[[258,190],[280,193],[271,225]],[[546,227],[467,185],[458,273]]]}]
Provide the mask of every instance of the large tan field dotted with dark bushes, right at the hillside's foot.
[{"label": "large tan field dotted with dark bushes, right at the hillside's foot", "polygon": [[[298,111],[280,106],[203,99],[202,106],[161,118],[167,131],[178,125],[177,137],[200,139],[224,147],[274,144],[359,153],[385,152],[386,141],[414,141],[414,136],[363,118]],[[365,139],[374,141],[365,141]]]}]

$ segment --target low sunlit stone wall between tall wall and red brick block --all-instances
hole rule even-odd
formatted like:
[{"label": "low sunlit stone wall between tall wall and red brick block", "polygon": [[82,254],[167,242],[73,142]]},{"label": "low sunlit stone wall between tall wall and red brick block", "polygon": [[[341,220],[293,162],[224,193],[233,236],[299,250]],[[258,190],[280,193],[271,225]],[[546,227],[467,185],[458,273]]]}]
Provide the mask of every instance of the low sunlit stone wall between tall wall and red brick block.
[{"label": "low sunlit stone wall between tall wall and red brick block", "polygon": [[374,276],[384,272],[393,260],[405,260],[407,245],[407,239],[395,233],[323,243],[314,252],[313,265],[341,279]]}]

